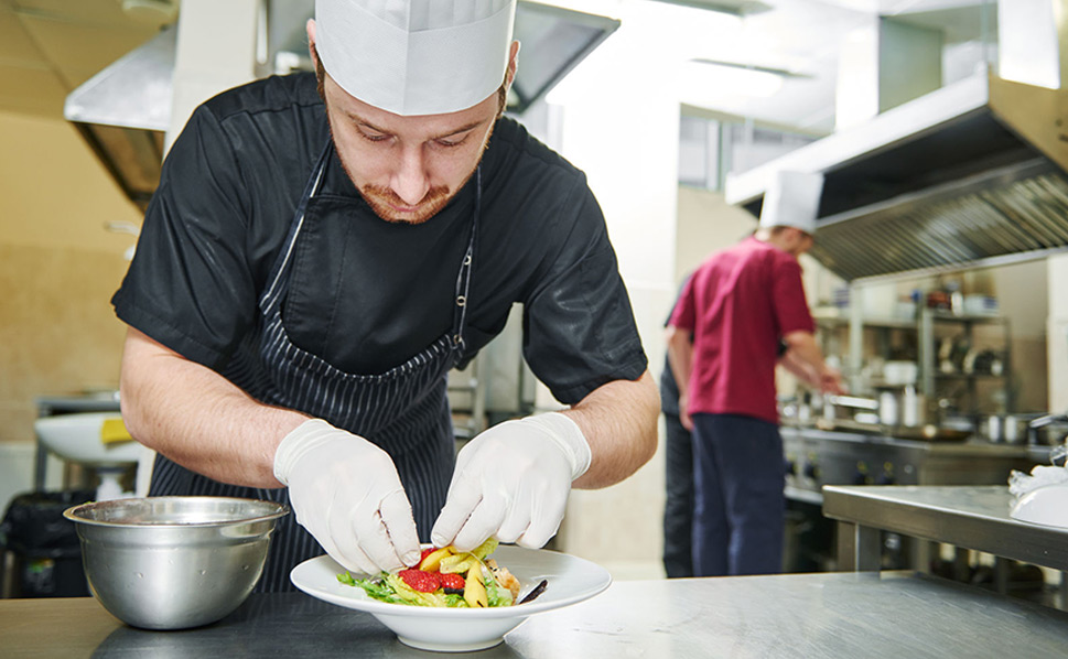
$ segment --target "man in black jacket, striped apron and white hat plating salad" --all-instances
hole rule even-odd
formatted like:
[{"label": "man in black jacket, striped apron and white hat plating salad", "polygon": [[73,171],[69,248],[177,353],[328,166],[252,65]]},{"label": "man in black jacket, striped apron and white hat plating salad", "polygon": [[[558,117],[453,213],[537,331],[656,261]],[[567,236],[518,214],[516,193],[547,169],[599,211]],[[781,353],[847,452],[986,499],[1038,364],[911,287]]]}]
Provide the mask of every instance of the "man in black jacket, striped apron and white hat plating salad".
[{"label": "man in black jacket, striped apron and white hat plating salad", "polygon": [[[317,75],[193,114],[112,303],[152,495],[289,503],[260,590],[325,550],[412,565],[419,541],[541,547],[572,485],[656,446],[658,397],[585,176],[503,117],[515,0],[317,0]],[[456,456],[445,377],[524,305],[569,406]],[[285,486],[285,487],[282,487]],[[301,528],[303,527],[303,528]]]}]

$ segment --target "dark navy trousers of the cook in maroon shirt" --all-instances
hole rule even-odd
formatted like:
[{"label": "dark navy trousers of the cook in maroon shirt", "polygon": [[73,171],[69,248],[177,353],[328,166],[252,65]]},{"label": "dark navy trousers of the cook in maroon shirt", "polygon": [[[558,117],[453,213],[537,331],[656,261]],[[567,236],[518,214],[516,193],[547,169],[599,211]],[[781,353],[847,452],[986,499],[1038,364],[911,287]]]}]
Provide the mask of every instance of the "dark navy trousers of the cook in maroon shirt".
[{"label": "dark navy trousers of the cook in maroon shirt", "polygon": [[783,437],[752,417],[693,417],[695,576],[783,570]]}]

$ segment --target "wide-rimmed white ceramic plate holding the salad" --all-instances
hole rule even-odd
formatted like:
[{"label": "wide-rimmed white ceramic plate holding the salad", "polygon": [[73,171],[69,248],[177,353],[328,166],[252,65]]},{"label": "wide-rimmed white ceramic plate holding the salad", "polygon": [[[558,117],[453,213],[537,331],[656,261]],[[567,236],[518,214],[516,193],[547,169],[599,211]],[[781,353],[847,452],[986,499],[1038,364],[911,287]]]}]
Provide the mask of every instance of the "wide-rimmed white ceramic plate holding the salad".
[{"label": "wide-rimmed white ceramic plate holding the salad", "polygon": [[360,587],[338,582],[337,575],[345,569],[325,555],[293,568],[290,580],[312,597],[371,614],[404,645],[444,652],[490,648],[527,617],[593,597],[612,583],[612,576],[601,565],[554,551],[500,545],[490,558],[522,584],[519,599],[542,579],[549,582],[546,591],[533,602],[497,608],[389,604],[371,598]]}]

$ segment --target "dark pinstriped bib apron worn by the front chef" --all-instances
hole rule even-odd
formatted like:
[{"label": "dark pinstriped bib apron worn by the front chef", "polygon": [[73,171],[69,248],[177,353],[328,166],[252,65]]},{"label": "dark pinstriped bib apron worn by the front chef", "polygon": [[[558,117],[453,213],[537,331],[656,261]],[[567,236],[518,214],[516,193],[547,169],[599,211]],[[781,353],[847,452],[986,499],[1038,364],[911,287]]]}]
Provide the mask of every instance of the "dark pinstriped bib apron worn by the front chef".
[{"label": "dark pinstriped bib apron worn by the front chef", "polygon": [[[301,195],[282,251],[259,300],[253,328],[241,341],[222,375],[257,400],[299,410],[358,434],[386,451],[397,466],[412,505],[419,538],[430,530],[445,501],[455,466],[455,439],[446,398],[446,376],[464,348],[467,292],[482,201],[482,171],[475,173],[471,237],[456,277],[453,323],[449,333],[421,353],[381,375],[342,371],[290,342],[281,304],[289,289],[293,248],[309,199],[319,192],[333,152],[328,141]],[[354,474],[359,477],[359,474]],[[213,480],[157,456],[150,494],[211,495],[267,499],[289,505],[289,490],[250,488]],[[323,554],[319,542],[294,516],[279,520],[257,592],[294,590],[289,572]]]}]

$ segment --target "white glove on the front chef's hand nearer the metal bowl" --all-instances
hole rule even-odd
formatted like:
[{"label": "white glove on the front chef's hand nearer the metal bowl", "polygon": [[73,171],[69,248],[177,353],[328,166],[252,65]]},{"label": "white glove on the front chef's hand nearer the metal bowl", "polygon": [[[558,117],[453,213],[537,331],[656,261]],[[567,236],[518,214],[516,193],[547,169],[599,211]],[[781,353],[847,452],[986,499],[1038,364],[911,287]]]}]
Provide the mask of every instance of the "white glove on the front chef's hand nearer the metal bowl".
[{"label": "white glove on the front chef's hand nearer the metal bowl", "polygon": [[419,561],[411,504],[389,455],[321,419],[305,421],[274,452],[296,521],[345,569],[366,574]]}]

